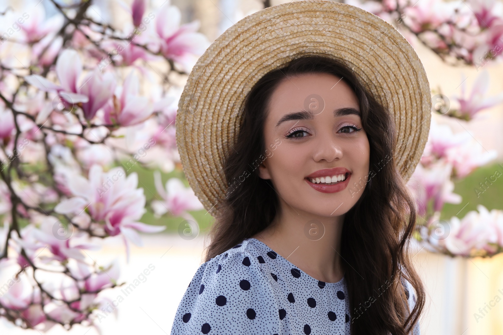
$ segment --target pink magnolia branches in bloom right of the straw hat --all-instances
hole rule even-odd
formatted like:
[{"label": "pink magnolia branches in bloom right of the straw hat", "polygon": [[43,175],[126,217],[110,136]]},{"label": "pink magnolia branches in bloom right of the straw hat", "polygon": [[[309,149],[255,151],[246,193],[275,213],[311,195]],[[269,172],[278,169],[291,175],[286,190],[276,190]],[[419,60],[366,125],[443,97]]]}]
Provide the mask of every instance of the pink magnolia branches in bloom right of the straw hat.
[{"label": "pink magnolia branches in bloom right of the straw hat", "polygon": [[[500,60],[503,51],[503,4],[496,0],[383,0],[381,2],[346,3],[361,7],[394,25],[415,45],[426,45],[451,65],[471,65],[481,70],[489,61]],[[371,52],[372,50],[370,50]],[[465,77],[460,78],[461,94],[449,99],[432,91],[433,112],[442,118],[456,118],[463,128],[474,119],[483,118],[479,111],[503,101],[503,93],[486,97],[489,75],[480,71],[473,89],[465,94]],[[416,239],[430,251],[450,256],[492,256],[503,251],[503,211],[487,210],[482,204],[463,218],[440,219],[444,203],[460,204],[453,193],[460,180],[496,158],[471,134],[453,134],[450,127],[432,118],[424,154],[407,186],[415,197],[420,216]],[[464,125],[463,125],[464,124]],[[498,164],[491,175],[475,188],[477,197],[503,174]],[[464,208],[464,207],[463,207]],[[460,208],[460,211],[461,209]]]}]

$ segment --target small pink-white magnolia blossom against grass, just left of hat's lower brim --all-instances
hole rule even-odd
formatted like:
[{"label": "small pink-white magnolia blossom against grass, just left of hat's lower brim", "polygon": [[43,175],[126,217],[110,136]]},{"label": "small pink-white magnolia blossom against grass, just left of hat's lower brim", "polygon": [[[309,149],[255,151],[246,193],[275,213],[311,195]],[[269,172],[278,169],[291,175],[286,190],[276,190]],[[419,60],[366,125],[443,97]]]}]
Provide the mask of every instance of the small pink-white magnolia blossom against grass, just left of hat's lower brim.
[{"label": "small pink-white magnolia blossom against grass, just left of hat's lower brim", "polygon": [[[160,216],[167,211],[175,216],[186,215],[187,210],[203,209],[203,204],[199,201],[190,187],[185,187],[178,178],[171,178],[166,182],[166,188],[162,186],[159,171],[154,172],[154,183],[157,193],[162,197],[162,201],[152,201],[152,209],[156,216]],[[191,219],[192,216],[190,216]]]}]

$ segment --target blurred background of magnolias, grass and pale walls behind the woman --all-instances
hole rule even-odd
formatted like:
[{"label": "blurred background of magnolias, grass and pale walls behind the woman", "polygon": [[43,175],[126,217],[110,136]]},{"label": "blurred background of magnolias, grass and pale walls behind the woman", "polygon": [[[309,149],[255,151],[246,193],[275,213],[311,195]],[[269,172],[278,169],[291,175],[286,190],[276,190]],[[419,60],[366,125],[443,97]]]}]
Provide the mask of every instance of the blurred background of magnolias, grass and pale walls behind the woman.
[{"label": "blurred background of magnolias, grass and pale walls behind the woman", "polygon": [[[178,99],[211,42],[281,3],[0,1],[0,332],[170,332],[213,224],[180,164]],[[398,29],[432,89],[408,183],[421,333],[502,334],[503,3],[346,3]]]}]

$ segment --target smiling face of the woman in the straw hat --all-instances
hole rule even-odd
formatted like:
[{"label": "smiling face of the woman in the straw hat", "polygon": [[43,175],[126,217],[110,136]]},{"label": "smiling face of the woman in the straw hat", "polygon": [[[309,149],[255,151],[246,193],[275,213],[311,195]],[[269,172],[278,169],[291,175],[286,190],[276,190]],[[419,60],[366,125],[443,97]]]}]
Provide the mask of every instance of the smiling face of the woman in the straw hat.
[{"label": "smiling face of the woman in the straw hat", "polygon": [[370,146],[358,99],[340,79],[302,74],[282,80],[271,96],[260,175],[297,212],[342,215],[369,178]]}]

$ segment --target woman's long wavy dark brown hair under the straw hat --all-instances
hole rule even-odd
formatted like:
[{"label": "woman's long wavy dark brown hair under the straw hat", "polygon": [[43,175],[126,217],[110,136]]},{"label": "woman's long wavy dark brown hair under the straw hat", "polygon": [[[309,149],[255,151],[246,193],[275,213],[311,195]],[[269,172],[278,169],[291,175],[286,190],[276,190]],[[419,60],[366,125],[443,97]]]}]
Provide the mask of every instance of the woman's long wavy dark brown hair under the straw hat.
[{"label": "woman's long wavy dark brown hair under the straw hat", "polygon": [[[423,283],[408,253],[416,208],[395,165],[393,119],[343,60],[304,55],[267,73],[250,90],[239,134],[232,146],[234,150],[224,157],[228,188],[225,199],[218,203],[222,214],[215,217],[208,235],[211,243],[206,261],[263,231],[275,217],[279,205],[276,191],[269,179],[260,178],[258,169],[250,172],[250,167],[261,163],[260,157],[264,157],[267,149],[263,128],[272,92],[285,76],[304,73],[333,74],[352,87],[370,144],[370,167],[374,174],[370,175],[360,199],[346,213],[341,239],[351,333],[405,335],[418,321],[425,305]],[[399,285],[402,278],[416,292],[411,311],[406,304],[409,293]]]}]

